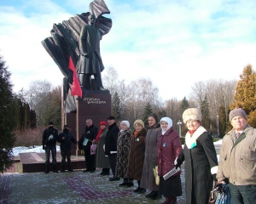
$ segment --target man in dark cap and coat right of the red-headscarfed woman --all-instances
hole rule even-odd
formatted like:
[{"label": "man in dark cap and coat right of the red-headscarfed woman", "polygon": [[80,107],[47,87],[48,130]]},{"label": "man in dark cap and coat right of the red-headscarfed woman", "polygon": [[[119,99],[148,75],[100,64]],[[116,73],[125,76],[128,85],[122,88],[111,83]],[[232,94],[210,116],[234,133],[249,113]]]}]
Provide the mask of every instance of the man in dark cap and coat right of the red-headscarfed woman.
[{"label": "man in dark cap and coat right of the red-headscarfed woman", "polygon": [[108,133],[105,140],[105,155],[108,156],[113,178],[109,178],[109,181],[119,180],[115,177],[115,166],[117,156],[117,140],[119,135],[119,127],[115,123],[115,117],[109,116],[108,118]]}]

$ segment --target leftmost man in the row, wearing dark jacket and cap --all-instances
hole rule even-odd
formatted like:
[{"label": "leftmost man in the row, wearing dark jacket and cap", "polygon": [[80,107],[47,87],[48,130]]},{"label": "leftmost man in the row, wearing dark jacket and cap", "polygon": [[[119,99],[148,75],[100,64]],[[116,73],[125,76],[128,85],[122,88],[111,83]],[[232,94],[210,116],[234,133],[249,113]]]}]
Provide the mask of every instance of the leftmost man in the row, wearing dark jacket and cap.
[{"label": "leftmost man in the row, wearing dark jacket and cap", "polygon": [[49,154],[51,151],[52,155],[52,170],[54,173],[58,173],[56,169],[56,140],[58,137],[58,130],[53,127],[54,123],[49,122],[49,127],[44,130],[43,133],[43,140],[42,140],[42,145],[43,145],[43,150],[45,150],[45,165],[46,165],[46,170],[44,173],[49,173]]}]

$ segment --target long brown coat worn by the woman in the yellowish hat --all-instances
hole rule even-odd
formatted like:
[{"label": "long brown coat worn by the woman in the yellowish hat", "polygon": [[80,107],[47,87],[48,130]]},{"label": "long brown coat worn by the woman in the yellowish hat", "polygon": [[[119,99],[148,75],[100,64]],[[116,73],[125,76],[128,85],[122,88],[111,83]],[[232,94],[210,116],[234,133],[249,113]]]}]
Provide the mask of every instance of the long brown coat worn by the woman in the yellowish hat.
[{"label": "long brown coat worn by the woman in the yellowish hat", "polygon": [[127,178],[141,180],[143,174],[143,162],[145,156],[145,139],[147,129],[143,128],[137,137],[134,137],[134,132],[131,135],[130,151],[128,159]]}]

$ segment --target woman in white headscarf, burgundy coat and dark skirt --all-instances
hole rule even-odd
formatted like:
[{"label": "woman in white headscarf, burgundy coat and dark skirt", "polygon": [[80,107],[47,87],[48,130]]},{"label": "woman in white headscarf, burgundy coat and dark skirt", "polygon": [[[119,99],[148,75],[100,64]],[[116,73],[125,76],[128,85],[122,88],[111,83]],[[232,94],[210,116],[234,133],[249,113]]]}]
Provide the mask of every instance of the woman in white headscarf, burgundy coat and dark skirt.
[{"label": "woman in white headscarf, burgundy coat and dark skirt", "polygon": [[163,176],[175,168],[174,161],[183,148],[178,133],[172,128],[170,117],[163,117],[160,120],[160,127],[162,131],[157,143],[158,175],[160,176],[159,193],[166,197],[164,204],[177,204],[177,196],[182,195],[181,171],[166,180]]}]

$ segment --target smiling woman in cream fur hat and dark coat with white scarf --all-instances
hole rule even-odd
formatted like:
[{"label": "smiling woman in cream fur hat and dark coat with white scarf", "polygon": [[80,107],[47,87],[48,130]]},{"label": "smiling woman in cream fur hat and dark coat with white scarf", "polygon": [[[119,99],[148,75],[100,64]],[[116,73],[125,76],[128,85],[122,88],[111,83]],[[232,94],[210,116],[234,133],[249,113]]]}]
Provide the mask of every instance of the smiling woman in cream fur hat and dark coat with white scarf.
[{"label": "smiling woman in cream fur hat and dark coat with white scarf", "polygon": [[188,204],[208,204],[213,179],[216,180],[218,160],[212,136],[201,126],[201,111],[189,108],[183,112],[186,134],[183,152],[176,167],[185,161],[186,197]]}]

